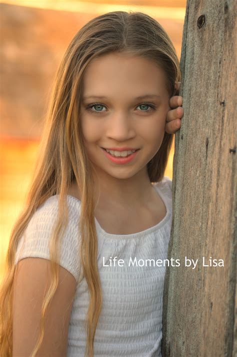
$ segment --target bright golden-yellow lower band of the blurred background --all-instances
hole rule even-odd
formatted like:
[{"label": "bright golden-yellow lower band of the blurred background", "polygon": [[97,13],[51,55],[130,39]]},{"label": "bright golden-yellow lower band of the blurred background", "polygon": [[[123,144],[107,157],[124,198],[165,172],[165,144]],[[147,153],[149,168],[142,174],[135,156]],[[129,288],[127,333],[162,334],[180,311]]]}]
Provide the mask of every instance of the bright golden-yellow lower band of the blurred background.
[{"label": "bright golden-yellow lower band of the blurred background", "polygon": [[[9,236],[25,200],[38,144],[37,139],[0,139],[0,152],[3,158],[0,166],[0,282],[4,274]],[[164,174],[171,179],[173,153],[174,141]]]}]

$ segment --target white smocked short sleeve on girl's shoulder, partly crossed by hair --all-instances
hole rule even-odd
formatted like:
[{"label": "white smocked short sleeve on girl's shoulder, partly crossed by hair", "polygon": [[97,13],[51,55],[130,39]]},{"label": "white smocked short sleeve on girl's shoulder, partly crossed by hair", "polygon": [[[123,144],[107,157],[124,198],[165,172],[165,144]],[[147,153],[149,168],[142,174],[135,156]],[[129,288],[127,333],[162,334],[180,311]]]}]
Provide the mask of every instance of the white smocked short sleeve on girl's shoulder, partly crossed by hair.
[{"label": "white smocked short sleeve on girl's shoulder, partly crossed by hair", "polygon": [[[58,212],[58,196],[49,197],[33,214],[16,248],[15,261],[27,257],[50,259],[49,242]],[[68,205],[68,224],[61,242],[59,265],[69,271],[78,282],[81,267],[79,259],[79,210]]]}]

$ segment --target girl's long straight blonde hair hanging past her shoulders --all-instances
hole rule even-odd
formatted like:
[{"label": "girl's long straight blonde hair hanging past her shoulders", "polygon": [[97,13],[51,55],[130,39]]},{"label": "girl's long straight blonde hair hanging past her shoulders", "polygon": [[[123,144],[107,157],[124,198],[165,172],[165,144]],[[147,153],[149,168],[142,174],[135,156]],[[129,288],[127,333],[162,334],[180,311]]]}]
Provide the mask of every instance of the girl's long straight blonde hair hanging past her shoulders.
[{"label": "girl's long straight blonde hair hanging past her shoulders", "polygon": [[[45,311],[58,284],[57,254],[60,237],[68,223],[66,194],[72,181],[80,192],[80,260],[89,290],[87,312],[86,356],[93,356],[93,340],[102,295],[97,269],[97,236],[94,222],[93,167],[83,145],[80,120],[81,79],[89,62],[111,52],[127,52],[156,62],[164,70],[169,97],[174,95],[180,70],[175,49],[163,28],[148,15],[139,12],[110,12],[94,18],[74,36],[59,65],[48,105],[40,141],[37,164],[25,205],[10,235],[6,273],[0,295],[0,355],[12,354],[12,290],[15,273],[15,251],[29,220],[37,208],[52,195],[59,195],[58,220],[50,240],[51,283],[43,300],[40,333],[31,354],[34,357],[43,339]],[[162,144],[147,164],[150,182],[164,175],[173,135],[164,133]],[[79,237],[78,237],[79,239]],[[58,241],[59,240],[59,241]],[[60,249],[58,249],[60,251]]]}]

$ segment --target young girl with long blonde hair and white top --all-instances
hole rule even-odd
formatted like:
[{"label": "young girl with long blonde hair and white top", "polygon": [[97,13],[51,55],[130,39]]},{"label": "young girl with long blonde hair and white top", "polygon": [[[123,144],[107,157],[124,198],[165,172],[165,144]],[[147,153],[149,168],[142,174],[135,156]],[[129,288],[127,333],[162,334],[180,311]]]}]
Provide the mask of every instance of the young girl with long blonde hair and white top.
[{"label": "young girl with long blonde hair and white top", "polygon": [[71,41],[10,237],[2,357],[161,355],[179,81],[145,14],[104,14]]}]

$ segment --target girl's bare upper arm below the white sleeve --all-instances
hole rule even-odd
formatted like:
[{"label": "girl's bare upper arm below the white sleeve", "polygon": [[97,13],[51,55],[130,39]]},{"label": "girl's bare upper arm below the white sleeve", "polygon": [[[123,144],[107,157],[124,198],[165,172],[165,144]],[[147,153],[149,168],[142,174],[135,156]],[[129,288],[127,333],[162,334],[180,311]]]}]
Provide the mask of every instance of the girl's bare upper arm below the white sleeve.
[{"label": "girl's bare upper arm below the white sleeve", "polygon": [[[12,357],[30,357],[35,347],[49,264],[47,259],[32,257],[17,263],[13,294]],[[75,286],[73,275],[59,266],[58,286],[45,315],[44,336],[36,357],[66,357]]]}]

